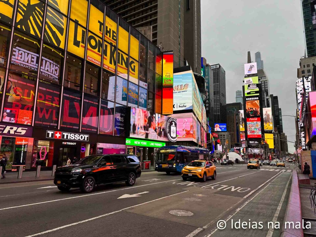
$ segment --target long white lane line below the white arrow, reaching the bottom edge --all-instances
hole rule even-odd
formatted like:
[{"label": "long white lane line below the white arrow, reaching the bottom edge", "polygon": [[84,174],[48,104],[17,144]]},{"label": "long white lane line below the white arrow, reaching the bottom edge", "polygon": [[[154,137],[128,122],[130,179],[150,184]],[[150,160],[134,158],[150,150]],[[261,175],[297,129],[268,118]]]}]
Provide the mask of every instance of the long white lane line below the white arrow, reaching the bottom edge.
[{"label": "long white lane line below the white arrow, reaching the bottom edge", "polygon": [[130,206],[130,207],[125,207],[125,208],[120,209],[120,210],[117,210],[117,211],[112,211],[112,212],[103,214],[103,215],[101,215],[101,216],[95,216],[95,217],[92,217],[92,218],[89,218],[89,219],[86,219],[86,220],[83,220],[83,221],[74,222],[74,223],[71,223],[71,224],[68,224],[68,225],[60,226],[60,227],[53,228],[53,229],[50,229],[50,230],[46,230],[46,231],[43,231],[43,232],[40,232],[40,233],[27,235],[26,237],[33,237],[33,236],[38,236],[38,235],[41,235],[41,234],[47,234],[47,233],[50,233],[50,232],[53,232],[53,231],[56,231],[56,230],[64,229],[64,228],[66,228],[66,227],[78,225],[78,224],[81,224],[81,223],[84,223],[84,222],[88,222],[88,221],[93,221],[93,220],[99,219],[99,218],[104,217],[104,216],[109,216],[109,215],[112,215],[112,214],[115,214],[115,213],[118,213],[118,212],[121,212],[121,211],[130,209],[130,208],[133,208],[133,207],[138,207],[138,206],[141,206],[141,205],[144,205],[144,204],[148,204],[148,203],[151,203],[151,202],[155,202],[155,201],[164,199],[164,198],[166,198],[166,197],[172,197],[172,196],[175,196],[175,195],[178,195],[178,194],[181,194],[181,193],[185,193],[185,192],[188,192],[188,191],[189,191],[189,190],[182,191],[182,192],[178,192],[178,193],[175,193],[175,194],[171,194],[171,195],[168,195],[168,196],[165,196],[165,197],[160,197],[160,198],[157,198],[157,199],[155,199],[155,200],[151,200],[151,201],[148,201],[148,202],[140,203],[140,204],[137,204],[137,205],[134,205],[134,206]]}]

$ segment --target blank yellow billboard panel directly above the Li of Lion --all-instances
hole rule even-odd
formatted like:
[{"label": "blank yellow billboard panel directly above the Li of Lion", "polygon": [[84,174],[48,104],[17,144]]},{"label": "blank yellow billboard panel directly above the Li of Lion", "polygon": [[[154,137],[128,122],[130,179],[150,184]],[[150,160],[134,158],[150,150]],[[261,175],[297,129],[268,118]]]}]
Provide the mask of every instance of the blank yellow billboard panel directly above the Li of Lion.
[{"label": "blank yellow billboard panel directly above the Li of Lion", "polygon": [[71,1],[70,18],[80,25],[87,26],[88,1],[76,0]]}]

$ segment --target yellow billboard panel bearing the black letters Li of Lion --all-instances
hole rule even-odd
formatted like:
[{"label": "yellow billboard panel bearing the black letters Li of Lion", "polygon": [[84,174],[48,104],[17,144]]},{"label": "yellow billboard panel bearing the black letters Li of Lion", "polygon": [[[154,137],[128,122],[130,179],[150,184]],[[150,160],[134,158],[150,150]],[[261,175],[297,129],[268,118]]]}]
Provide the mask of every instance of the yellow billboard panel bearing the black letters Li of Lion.
[{"label": "yellow billboard panel bearing the black letters Li of Lion", "polygon": [[69,21],[68,51],[83,58],[86,30],[73,21]]}]

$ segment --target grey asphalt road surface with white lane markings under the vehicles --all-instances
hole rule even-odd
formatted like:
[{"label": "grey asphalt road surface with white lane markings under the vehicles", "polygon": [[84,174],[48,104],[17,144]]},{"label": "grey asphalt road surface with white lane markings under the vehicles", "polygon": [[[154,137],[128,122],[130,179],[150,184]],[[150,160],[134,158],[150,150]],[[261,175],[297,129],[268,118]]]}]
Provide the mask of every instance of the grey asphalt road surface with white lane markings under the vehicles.
[{"label": "grey asphalt road surface with white lane markings under the vehicles", "polygon": [[[0,236],[279,236],[294,166],[217,165],[216,180],[206,182],[143,172],[132,187],[105,185],[91,194],[62,193],[52,181],[3,184]],[[217,228],[219,220],[226,228]],[[238,228],[239,221],[263,228]]]}]

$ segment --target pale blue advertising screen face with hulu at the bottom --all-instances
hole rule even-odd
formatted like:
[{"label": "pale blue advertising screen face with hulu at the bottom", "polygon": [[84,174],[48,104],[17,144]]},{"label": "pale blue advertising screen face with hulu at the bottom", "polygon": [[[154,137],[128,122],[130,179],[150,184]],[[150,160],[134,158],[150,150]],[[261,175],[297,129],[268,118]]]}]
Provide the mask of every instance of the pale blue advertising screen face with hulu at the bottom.
[{"label": "pale blue advertising screen face with hulu at the bottom", "polygon": [[192,109],[192,71],[173,74],[173,110]]}]

